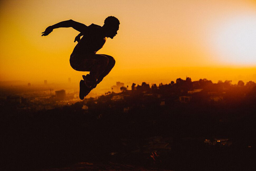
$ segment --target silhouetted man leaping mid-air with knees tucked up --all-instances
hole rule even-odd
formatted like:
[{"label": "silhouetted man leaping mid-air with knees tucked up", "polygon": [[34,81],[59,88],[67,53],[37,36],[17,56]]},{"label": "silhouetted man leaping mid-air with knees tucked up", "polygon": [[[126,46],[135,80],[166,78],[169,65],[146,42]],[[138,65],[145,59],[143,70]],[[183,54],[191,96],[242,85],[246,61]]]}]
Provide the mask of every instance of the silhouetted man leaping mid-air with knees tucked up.
[{"label": "silhouetted man leaping mid-air with knees tucked up", "polygon": [[[115,65],[112,56],[96,54],[106,42],[117,34],[119,20],[113,16],[105,19],[104,25],[91,24],[86,26],[73,20],[67,20],[49,26],[42,32],[42,36],[48,35],[54,28],[72,27],[80,33],[75,37],[74,42],[78,42],[70,55],[70,65],[77,71],[90,71],[90,74],[83,75],[84,80],[80,81],[80,99],[84,97],[99,84],[102,79],[111,71]],[[80,37],[83,36],[80,40]]]}]

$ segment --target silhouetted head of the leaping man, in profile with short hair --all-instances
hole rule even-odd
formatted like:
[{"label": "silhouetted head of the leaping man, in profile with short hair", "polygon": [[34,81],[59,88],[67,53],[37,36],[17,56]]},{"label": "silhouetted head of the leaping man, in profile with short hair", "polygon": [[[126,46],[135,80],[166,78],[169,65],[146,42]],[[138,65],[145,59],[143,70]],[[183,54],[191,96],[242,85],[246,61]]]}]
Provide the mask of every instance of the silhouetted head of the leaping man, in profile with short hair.
[{"label": "silhouetted head of the leaping man, in profile with short hair", "polygon": [[103,27],[106,30],[106,36],[113,38],[117,34],[119,29],[119,20],[113,16],[109,16],[105,19]]}]

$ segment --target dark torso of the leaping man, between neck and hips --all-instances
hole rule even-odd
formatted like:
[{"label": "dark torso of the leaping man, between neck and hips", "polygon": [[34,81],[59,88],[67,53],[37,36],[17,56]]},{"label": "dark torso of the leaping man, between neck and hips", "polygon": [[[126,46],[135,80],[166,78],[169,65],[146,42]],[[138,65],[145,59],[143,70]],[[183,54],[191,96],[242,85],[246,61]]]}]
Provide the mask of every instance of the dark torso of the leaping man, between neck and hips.
[{"label": "dark torso of the leaping man, between neck and hips", "polygon": [[74,48],[73,54],[95,54],[106,42],[101,26],[91,24],[83,34],[83,37]]}]

